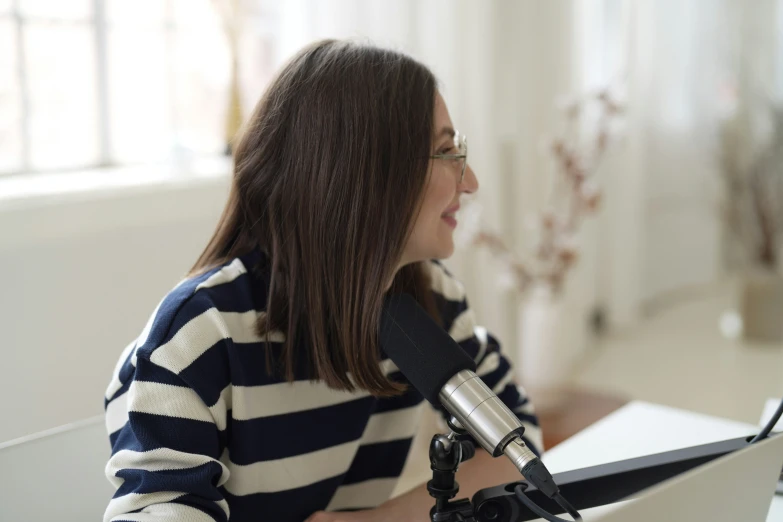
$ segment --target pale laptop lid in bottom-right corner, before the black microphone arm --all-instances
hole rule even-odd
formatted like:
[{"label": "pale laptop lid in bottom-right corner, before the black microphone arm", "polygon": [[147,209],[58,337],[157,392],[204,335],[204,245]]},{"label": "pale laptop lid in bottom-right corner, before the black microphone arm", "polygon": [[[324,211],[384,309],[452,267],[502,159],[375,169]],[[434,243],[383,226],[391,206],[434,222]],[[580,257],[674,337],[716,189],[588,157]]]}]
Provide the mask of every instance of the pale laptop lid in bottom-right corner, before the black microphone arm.
[{"label": "pale laptop lid in bottom-right corner, before the black microphone arm", "polygon": [[[765,522],[781,468],[783,434],[774,434],[657,484],[634,499],[580,514],[585,522]],[[779,502],[783,504],[783,499]],[[783,511],[777,502],[775,509]]]}]

